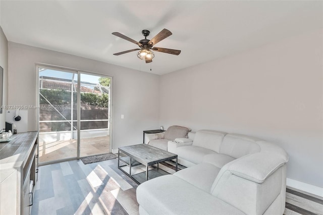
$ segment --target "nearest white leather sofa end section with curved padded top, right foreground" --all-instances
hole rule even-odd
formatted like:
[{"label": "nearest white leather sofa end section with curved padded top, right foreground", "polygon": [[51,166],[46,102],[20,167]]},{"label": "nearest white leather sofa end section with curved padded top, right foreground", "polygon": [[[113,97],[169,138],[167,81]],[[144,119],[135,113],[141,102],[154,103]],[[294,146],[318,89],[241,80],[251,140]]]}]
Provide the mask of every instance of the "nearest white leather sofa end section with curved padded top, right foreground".
[{"label": "nearest white leather sofa end section with curved padded top, right foreground", "polygon": [[283,214],[287,161],[267,152],[235,159],[221,168],[211,194],[245,214],[263,214],[268,206],[276,208],[275,214]]}]

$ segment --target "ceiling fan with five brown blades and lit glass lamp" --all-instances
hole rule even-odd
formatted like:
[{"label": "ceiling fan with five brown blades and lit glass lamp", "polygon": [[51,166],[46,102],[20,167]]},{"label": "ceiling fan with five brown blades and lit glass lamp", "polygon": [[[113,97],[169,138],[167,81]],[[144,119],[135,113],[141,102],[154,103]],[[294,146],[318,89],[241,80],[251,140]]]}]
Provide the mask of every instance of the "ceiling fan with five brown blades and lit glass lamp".
[{"label": "ceiling fan with five brown blades and lit glass lamp", "polygon": [[155,44],[157,44],[157,42],[172,35],[172,32],[170,32],[169,30],[164,28],[156,36],[154,36],[151,40],[147,39],[147,36],[149,36],[150,31],[142,30],[141,33],[145,38],[140,40],[139,42],[137,42],[136,40],[133,40],[133,39],[131,39],[119,32],[113,32],[112,33],[113,35],[121,37],[121,38],[128,40],[130,42],[133,42],[139,46],[139,48],[121,51],[118,53],[114,53],[114,55],[119,56],[119,55],[123,55],[124,53],[139,50],[137,53],[137,57],[141,60],[146,61],[146,63],[151,63],[152,59],[155,57],[154,53],[151,50],[170,53],[172,55],[179,55],[181,53],[181,50],[153,47]]}]

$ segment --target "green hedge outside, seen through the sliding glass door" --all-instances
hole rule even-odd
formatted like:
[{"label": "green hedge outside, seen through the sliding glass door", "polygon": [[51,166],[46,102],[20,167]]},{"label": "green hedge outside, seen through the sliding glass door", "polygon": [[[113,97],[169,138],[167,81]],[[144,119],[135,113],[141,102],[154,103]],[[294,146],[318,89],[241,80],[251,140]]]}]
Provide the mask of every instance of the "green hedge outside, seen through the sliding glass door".
[{"label": "green hedge outside, seen through the sliding glass door", "polygon": [[[51,104],[70,104],[71,103],[71,91],[40,89],[39,92]],[[73,92],[73,103],[76,103],[76,101],[77,101],[77,93]],[[109,96],[106,93],[103,93],[101,95],[96,93],[84,93],[84,92],[81,93],[81,102],[86,104],[99,106],[101,108],[107,108],[108,101],[109,101]],[[39,103],[47,104],[48,102],[41,95],[39,95]]]}]

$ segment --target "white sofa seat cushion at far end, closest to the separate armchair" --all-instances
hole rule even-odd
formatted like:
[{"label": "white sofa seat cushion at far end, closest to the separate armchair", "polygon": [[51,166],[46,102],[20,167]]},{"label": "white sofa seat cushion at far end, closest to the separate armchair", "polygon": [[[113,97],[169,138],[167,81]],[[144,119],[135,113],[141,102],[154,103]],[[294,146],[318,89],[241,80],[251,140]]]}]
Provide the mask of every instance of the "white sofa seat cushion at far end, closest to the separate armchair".
[{"label": "white sofa seat cushion at far end, closest to the separate armchair", "polygon": [[189,162],[192,162],[194,164],[201,164],[203,162],[203,157],[206,154],[215,154],[217,152],[212,151],[207,148],[202,148],[198,146],[181,146],[177,147],[176,154],[185,160],[188,160]]}]

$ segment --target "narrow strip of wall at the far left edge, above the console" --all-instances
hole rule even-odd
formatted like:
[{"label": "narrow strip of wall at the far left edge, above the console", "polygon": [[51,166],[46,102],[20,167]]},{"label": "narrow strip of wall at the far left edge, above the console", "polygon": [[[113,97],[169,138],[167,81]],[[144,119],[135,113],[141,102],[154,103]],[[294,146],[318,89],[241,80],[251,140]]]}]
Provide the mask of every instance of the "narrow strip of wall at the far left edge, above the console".
[{"label": "narrow strip of wall at the far left edge, above the console", "polygon": [[[8,40],[0,26],[0,66],[4,69],[3,105],[8,104]],[[6,110],[0,114],[0,129],[6,127]]]}]

